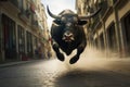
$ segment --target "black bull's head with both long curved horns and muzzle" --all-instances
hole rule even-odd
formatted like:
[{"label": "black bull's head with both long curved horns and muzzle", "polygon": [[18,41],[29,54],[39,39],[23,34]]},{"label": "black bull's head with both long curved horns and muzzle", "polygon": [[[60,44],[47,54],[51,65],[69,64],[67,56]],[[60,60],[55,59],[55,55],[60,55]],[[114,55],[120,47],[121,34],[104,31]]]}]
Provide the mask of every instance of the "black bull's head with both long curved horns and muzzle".
[{"label": "black bull's head with both long curved horns and muzzle", "polygon": [[75,40],[74,32],[76,30],[77,26],[82,26],[87,24],[87,20],[94,16],[101,10],[99,9],[96,12],[87,16],[78,16],[70,10],[65,10],[62,13],[60,13],[60,15],[55,15],[49,10],[49,7],[47,7],[47,9],[49,15],[55,18],[54,23],[60,26],[63,26],[64,34],[62,39],[66,42],[72,42],[73,40]]}]

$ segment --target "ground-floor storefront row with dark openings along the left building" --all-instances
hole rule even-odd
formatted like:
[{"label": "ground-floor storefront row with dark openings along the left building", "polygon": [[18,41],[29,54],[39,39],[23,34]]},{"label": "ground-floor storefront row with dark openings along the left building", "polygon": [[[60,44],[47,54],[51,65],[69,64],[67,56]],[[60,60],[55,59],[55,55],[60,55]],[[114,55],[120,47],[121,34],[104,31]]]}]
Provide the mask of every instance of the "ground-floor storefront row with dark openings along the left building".
[{"label": "ground-floor storefront row with dark openings along the left building", "polygon": [[0,11],[0,61],[43,59],[44,51],[44,42],[31,27]]}]

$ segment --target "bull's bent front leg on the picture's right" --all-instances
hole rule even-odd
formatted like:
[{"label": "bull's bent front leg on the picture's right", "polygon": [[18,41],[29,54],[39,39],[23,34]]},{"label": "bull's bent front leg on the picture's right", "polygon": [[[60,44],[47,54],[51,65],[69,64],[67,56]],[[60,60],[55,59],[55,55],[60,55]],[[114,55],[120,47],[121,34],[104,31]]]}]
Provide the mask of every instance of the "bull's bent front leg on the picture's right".
[{"label": "bull's bent front leg on the picture's right", "polygon": [[87,42],[86,42],[86,41],[82,42],[81,45],[79,45],[79,47],[77,48],[77,54],[74,55],[74,57],[70,59],[70,61],[69,61],[70,64],[74,64],[74,63],[76,63],[76,62],[79,60],[79,57],[80,57],[80,54],[83,52],[86,46],[87,46]]}]

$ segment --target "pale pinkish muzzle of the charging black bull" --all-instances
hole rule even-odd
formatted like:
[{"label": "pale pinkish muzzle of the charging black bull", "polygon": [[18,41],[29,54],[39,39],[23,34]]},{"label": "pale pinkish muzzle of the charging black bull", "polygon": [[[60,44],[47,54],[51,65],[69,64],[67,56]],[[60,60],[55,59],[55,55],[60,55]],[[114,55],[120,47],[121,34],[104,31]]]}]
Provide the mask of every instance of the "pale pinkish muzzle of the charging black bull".
[{"label": "pale pinkish muzzle of the charging black bull", "polygon": [[65,42],[72,42],[73,40],[75,40],[74,34],[73,34],[73,33],[69,33],[69,32],[66,32],[66,33],[64,33],[62,39],[63,39]]}]

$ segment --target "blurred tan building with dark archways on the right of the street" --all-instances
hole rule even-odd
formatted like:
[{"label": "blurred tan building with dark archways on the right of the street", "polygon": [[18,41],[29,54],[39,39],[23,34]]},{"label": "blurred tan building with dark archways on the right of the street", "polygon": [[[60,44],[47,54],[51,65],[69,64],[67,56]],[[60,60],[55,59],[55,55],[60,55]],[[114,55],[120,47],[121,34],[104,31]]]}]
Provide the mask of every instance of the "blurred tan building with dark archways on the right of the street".
[{"label": "blurred tan building with dark archways on the right of the street", "polygon": [[130,0],[76,0],[76,10],[88,15],[102,11],[88,20],[84,26],[88,47],[109,55],[130,55]]}]

